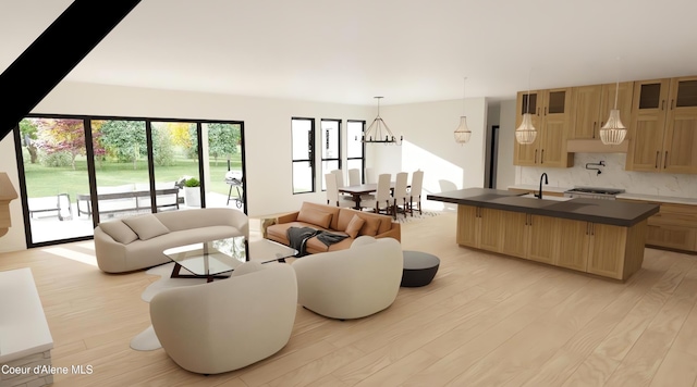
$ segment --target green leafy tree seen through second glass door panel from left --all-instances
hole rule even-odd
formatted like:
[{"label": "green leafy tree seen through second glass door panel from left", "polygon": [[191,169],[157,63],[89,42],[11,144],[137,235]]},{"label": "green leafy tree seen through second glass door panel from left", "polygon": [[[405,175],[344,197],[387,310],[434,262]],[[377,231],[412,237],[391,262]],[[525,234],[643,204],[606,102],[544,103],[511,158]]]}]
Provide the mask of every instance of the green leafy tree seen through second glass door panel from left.
[{"label": "green leafy tree seen through second glass door panel from left", "polygon": [[120,162],[133,162],[137,168],[138,158],[147,155],[145,122],[143,121],[103,121],[100,123],[100,143],[107,154]]}]

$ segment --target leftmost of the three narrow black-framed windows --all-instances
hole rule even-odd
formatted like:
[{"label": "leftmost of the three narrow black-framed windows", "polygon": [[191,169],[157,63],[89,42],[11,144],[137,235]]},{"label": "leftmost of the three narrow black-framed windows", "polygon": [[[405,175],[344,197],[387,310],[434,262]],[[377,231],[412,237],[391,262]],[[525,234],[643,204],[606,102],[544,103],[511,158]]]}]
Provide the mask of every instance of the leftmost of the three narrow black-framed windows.
[{"label": "leftmost of the three narrow black-framed windows", "polygon": [[315,191],[315,120],[291,118],[293,194]]}]

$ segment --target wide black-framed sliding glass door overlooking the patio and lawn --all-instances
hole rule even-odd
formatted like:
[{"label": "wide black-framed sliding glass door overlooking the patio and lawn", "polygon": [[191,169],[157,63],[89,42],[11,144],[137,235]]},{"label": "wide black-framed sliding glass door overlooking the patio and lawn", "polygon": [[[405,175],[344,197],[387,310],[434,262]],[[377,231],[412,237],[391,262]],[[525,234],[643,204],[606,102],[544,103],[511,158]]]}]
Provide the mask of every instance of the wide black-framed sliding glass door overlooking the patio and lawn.
[{"label": "wide black-framed sliding glass door overlooking the patio and lawn", "polygon": [[123,216],[201,207],[245,211],[242,128],[230,122],[23,120],[15,139],[27,246],[88,239],[99,222]]}]

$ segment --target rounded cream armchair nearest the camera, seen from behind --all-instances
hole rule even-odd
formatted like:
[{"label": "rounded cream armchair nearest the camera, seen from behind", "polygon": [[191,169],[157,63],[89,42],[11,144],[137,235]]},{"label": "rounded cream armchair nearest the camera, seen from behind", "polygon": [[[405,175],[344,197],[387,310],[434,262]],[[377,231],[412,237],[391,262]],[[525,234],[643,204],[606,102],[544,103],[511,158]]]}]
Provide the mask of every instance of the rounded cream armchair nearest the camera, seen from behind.
[{"label": "rounded cream armchair nearest the camera, seen from behind", "polygon": [[163,290],[150,301],[162,348],[182,369],[218,374],[281,350],[297,309],[288,264],[245,262],[229,279]]}]

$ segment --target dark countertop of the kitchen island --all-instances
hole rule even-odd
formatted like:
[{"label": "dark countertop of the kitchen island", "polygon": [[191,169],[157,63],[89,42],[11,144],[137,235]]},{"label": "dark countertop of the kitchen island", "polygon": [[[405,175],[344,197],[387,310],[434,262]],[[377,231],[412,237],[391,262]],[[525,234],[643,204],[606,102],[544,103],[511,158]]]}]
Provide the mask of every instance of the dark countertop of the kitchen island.
[{"label": "dark countertop of the kitchen island", "polygon": [[633,226],[659,212],[658,204],[574,198],[566,201],[523,198],[521,194],[489,188],[466,188],[432,194],[428,200],[496,210],[563,217],[575,221]]}]

